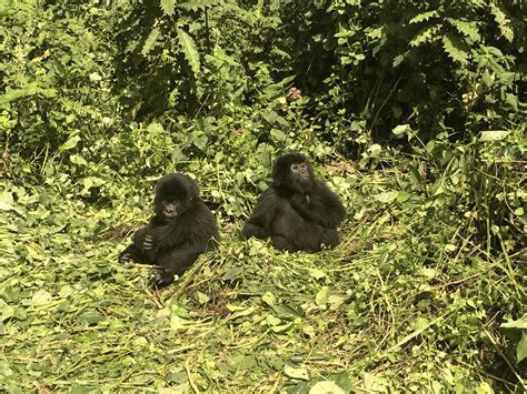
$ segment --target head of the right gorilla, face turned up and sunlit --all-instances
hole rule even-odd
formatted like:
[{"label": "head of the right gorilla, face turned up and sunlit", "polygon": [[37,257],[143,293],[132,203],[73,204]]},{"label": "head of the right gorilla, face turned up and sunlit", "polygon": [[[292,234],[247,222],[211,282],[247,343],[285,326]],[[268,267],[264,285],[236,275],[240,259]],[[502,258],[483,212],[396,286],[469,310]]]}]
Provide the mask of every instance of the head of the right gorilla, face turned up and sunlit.
[{"label": "head of the right gorilla, face turned up and sunlit", "polygon": [[306,194],[311,190],[314,180],[311,164],[297,152],[278,158],[272,166],[272,185],[278,189]]}]

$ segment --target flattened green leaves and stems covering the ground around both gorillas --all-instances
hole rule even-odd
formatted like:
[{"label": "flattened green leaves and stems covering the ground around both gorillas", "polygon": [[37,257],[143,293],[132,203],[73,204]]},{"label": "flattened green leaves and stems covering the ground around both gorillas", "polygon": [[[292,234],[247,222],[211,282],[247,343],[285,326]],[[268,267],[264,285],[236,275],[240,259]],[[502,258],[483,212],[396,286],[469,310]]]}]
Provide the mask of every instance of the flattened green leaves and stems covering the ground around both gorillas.
[{"label": "flattened green leaves and stems covering the ground around both gorillas", "polygon": [[487,257],[469,240],[453,251],[456,229],[427,233],[419,209],[379,208],[384,199],[370,192],[392,181],[349,179],[351,209],[335,250],[282,253],[240,240],[241,222],[220,223],[219,250],[160,291],[149,287],[148,266],[117,262],[148,212],[125,202],[89,208],[50,188],[2,181],[2,387],[513,390],[520,372],[496,351],[501,339],[478,290],[499,286],[503,276],[489,277],[506,259]]}]

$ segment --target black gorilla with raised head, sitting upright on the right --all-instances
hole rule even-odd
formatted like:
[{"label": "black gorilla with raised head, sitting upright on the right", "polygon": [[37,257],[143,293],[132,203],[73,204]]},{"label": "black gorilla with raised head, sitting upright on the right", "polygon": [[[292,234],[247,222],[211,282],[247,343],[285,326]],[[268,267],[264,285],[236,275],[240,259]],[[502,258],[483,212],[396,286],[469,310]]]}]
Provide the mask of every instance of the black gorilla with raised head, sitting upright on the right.
[{"label": "black gorilla with raised head, sitting upright on the right", "polygon": [[289,153],[275,162],[272,184],[241,232],[245,238],[270,238],[280,250],[317,252],[322,244],[339,243],[337,225],[345,216],[340,199],[314,176],[309,161]]}]

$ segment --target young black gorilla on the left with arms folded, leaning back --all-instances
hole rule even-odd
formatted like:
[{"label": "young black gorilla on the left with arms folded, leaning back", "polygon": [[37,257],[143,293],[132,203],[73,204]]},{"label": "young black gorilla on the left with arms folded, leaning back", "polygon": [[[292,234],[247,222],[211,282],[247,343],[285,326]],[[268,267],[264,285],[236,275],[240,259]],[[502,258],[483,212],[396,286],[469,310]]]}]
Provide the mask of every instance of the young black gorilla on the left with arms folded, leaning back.
[{"label": "young black gorilla on the left with arms folded, leaning back", "polygon": [[200,199],[198,184],[183,174],[170,174],[156,184],[155,214],[150,223],[133,234],[133,243],[119,256],[120,262],[156,264],[153,284],[173,282],[219,241],[216,218]]}]

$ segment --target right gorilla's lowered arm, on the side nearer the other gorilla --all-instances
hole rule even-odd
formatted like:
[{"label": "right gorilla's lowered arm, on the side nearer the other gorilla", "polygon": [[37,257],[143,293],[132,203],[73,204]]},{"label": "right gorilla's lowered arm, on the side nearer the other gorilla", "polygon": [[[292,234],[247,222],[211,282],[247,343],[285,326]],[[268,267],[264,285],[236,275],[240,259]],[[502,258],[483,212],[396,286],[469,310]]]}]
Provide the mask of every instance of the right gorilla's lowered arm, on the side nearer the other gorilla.
[{"label": "right gorilla's lowered arm, on the side nearer the other gorilla", "polygon": [[275,191],[269,188],[258,199],[255,211],[249,220],[243,225],[241,234],[249,239],[256,236],[260,240],[266,240],[270,235],[270,226],[275,219],[277,210],[277,195]]}]

